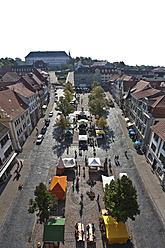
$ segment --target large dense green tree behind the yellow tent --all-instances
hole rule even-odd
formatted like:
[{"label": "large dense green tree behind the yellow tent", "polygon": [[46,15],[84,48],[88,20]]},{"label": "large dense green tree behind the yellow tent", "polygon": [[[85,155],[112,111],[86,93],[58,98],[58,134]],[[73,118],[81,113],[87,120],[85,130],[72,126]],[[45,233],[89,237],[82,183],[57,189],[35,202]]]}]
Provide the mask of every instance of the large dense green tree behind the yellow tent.
[{"label": "large dense green tree behind the yellow tent", "polygon": [[115,217],[117,222],[126,222],[128,218],[135,220],[134,216],[140,214],[136,188],[127,176],[106,184],[104,203],[108,214]]}]

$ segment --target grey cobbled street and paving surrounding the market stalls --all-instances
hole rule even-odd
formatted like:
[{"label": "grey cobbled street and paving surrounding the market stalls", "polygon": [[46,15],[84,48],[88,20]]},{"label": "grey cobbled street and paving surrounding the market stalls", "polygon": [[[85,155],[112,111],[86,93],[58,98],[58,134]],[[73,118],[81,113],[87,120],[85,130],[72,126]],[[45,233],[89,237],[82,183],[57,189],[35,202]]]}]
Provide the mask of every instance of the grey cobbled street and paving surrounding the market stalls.
[{"label": "grey cobbled street and paving surrounding the market stalls", "polygon": [[[51,94],[53,94],[53,92]],[[62,90],[59,89],[58,95],[61,94]],[[53,95],[51,96],[53,97]],[[86,110],[88,99],[87,94],[81,94],[81,99],[83,99],[82,106]],[[29,247],[30,237],[35,223],[35,217],[34,215],[29,215],[27,212],[28,198],[33,197],[33,192],[36,185],[38,185],[40,182],[47,183],[48,178],[52,177],[55,174],[55,165],[57,164],[58,158],[60,156],[74,157],[74,152],[77,147],[71,146],[69,148],[69,154],[67,154],[65,143],[61,145],[61,143],[59,143],[57,139],[58,133],[56,131],[56,128],[54,127],[56,118],[56,111],[54,110],[54,107],[54,99],[52,99],[49,105],[49,111],[53,110],[54,115],[51,118],[50,126],[48,127],[42,144],[39,146],[35,145],[36,134],[34,130],[34,133],[29,138],[29,142],[27,142],[26,146],[24,146],[23,153],[19,155],[19,159],[24,160],[24,162],[26,163],[26,168],[25,166],[23,167],[25,172],[22,171],[22,178],[20,178],[20,181],[24,184],[24,191],[18,192],[16,194],[5,221],[1,222],[1,224],[3,223],[3,225],[1,227],[0,247],[8,248],[11,247],[11,244],[13,248]],[[81,106],[79,106],[78,110],[81,110]],[[99,157],[102,163],[104,162],[105,157],[111,158],[113,174],[115,177],[117,177],[119,172],[126,172],[128,174],[137,188],[138,201],[141,209],[140,216],[136,217],[136,220],[134,222],[128,221],[129,234],[133,237],[132,244],[131,246],[130,244],[127,244],[122,247],[164,248],[164,216],[161,216],[161,213],[158,213],[158,209],[156,209],[155,204],[151,200],[148,188],[146,188],[147,184],[145,182],[145,179],[143,178],[143,175],[141,175],[143,168],[140,166],[147,167],[144,172],[146,173],[147,171],[147,173],[149,173],[147,174],[149,175],[149,177],[147,177],[146,174],[145,177],[148,180],[152,180],[152,182],[154,183],[153,187],[155,187],[153,190],[155,190],[155,194],[159,199],[162,199],[162,204],[164,204],[164,197],[162,197],[163,193],[161,193],[161,189],[159,191],[159,189],[156,188],[156,186],[160,187],[158,179],[156,178],[156,175],[151,174],[150,167],[148,164],[146,164],[144,155],[138,155],[132,147],[125,127],[124,118],[121,115],[121,110],[118,108],[111,108],[107,115],[107,118],[108,126],[106,130],[106,143],[100,144],[96,148],[96,157]],[[43,120],[40,121],[39,125],[41,128],[43,125]],[[128,151],[129,159],[125,157],[125,150]],[[82,173],[82,166],[84,163],[85,155],[87,155],[88,157],[92,157],[93,148],[89,146],[88,150],[83,152],[82,156],[78,156],[77,161],[81,165],[80,191],[78,193],[76,192],[76,190],[73,192],[72,189],[73,173],[68,174],[68,191],[65,212],[65,245],[60,244],[60,247],[70,248],[80,246],[80,244],[76,244],[74,238],[74,224],[78,221],[82,221],[84,224],[94,222],[96,225],[96,246],[87,246],[87,242],[85,242],[84,247],[121,247],[121,245],[107,246],[105,244],[105,239],[101,236],[98,218],[100,216],[100,208],[104,208],[102,199],[102,182],[100,181],[99,174],[93,175],[96,177],[94,192],[96,195],[98,193],[100,194],[100,206],[98,206],[95,200],[91,202],[85,194],[86,191],[89,190],[89,186],[86,184],[86,180],[89,177],[88,168],[85,169],[85,178],[83,177]],[[119,155],[120,166],[116,166],[114,163],[115,155]],[[139,168],[141,169],[139,170]],[[25,175],[24,178],[23,173]],[[12,178],[10,180],[12,180]],[[13,187],[16,187],[16,183],[20,183],[15,181],[13,182]],[[6,189],[4,189],[4,196],[5,190],[7,190],[7,187]],[[82,215],[80,215],[79,205],[81,193],[84,194],[84,208]],[[3,195],[1,195],[1,197],[3,197]],[[1,199],[2,198],[0,198],[0,203],[4,204]],[[154,200],[156,201],[156,196]],[[40,229],[39,225],[37,225],[37,228]],[[41,241],[42,239],[42,232],[38,233],[38,229],[35,232],[36,237],[34,247],[36,247],[37,239],[39,239],[38,241]]]}]

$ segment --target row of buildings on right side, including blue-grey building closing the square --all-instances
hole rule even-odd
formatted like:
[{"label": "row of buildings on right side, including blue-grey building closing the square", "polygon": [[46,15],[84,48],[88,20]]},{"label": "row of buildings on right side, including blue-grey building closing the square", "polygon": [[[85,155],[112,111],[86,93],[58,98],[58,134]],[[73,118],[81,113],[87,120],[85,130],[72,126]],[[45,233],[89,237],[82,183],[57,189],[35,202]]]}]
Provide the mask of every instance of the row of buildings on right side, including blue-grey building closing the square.
[{"label": "row of buildings on right side, including blue-grey building closing the square", "polygon": [[74,72],[75,87],[91,88],[94,81],[110,91],[165,184],[165,68],[119,70],[107,61],[91,65],[79,62]]}]

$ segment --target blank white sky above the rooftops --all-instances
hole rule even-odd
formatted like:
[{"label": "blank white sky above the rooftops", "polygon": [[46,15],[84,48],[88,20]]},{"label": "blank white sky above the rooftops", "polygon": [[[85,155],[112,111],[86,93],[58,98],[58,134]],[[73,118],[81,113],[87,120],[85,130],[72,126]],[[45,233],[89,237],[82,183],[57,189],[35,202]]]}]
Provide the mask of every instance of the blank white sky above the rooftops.
[{"label": "blank white sky above the rooftops", "polygon": [[65,51],[165,66],[164,0],[0,0],[0,58]]}]

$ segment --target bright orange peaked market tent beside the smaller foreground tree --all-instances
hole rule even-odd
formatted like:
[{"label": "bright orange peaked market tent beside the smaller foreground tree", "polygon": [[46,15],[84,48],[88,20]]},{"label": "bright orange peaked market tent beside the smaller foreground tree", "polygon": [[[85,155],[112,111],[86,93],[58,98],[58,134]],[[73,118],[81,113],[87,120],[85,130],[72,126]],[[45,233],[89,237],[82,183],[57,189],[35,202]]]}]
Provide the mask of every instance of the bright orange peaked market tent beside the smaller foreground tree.
[{"label": "bright orange peaked market tent beside the smaller foreground tree", "polygon": [[54,176],[50,187],[52,195],[56,195],[58,200],[64,200],[66,186],[67,186],[67,176],[61,176],[61,177]]}]

